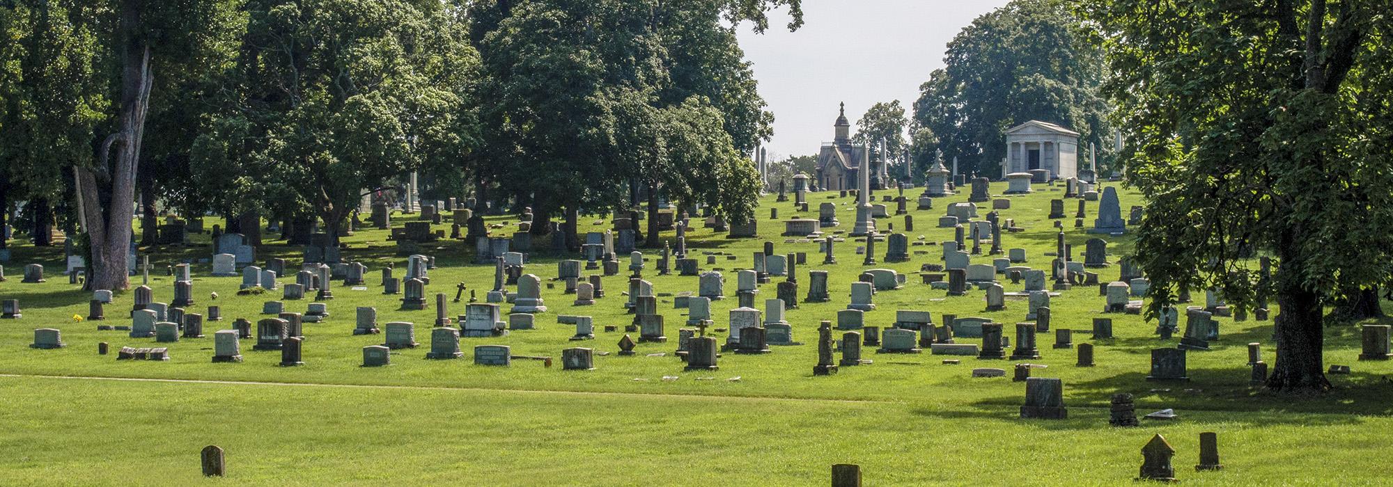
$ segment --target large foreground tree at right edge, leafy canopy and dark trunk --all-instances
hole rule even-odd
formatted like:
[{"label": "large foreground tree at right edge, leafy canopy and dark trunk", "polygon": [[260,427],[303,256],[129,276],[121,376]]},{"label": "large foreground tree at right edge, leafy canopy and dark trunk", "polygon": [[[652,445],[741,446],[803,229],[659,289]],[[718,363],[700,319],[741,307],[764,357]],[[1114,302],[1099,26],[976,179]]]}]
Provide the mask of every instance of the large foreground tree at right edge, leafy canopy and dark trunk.
[{"label": "large foreground tree at right edge, leafy canopy and dark trunk", "polygon": [[1386,284],[1393,238],[1393,18],[1387,1],[1089,0],[1148,196],[1135,259],[1151,312],[1180,289],[1280,308],[1268,387],[1323,391],[1322,306]]}]

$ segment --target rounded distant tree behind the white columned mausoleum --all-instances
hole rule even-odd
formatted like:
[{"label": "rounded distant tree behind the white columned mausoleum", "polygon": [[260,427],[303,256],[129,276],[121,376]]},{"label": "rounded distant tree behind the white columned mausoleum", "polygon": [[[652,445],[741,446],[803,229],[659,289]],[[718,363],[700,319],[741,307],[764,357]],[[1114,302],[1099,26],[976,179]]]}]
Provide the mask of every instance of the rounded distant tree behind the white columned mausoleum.
[{"label": "rounded distant tree behind the white columned mausoleum", "polygon": [[1061,0],[1015,0],[978,17],[949,43],[946,67],[919,86],[917,125],[937,134],[944,159],[957,157],[964,174],[993,175],[1006,157],[1004,131],[1031,120],[1078,131],[1082,146],[1109,147],[1100,54],[1081,25]]}]

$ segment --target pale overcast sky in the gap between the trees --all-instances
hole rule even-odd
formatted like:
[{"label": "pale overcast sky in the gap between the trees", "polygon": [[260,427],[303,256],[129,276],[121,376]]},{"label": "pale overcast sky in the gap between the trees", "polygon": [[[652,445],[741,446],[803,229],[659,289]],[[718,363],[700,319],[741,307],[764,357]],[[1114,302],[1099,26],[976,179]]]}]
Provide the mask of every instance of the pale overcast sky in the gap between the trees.
[{"label": "pale overcast sky in the gap between the trees", "polygon": [[804,0],[805,25],[797,32],[788,32],[784,10],[773,13],[763,35],[741,25],[740,46],[775,114],[770,160],[815,154],[822,142],[832,142],[841,102],[853,125],[876,102],[900,100],[912,115],[919,85],[943,67],[949,40],[1006,3]]}]

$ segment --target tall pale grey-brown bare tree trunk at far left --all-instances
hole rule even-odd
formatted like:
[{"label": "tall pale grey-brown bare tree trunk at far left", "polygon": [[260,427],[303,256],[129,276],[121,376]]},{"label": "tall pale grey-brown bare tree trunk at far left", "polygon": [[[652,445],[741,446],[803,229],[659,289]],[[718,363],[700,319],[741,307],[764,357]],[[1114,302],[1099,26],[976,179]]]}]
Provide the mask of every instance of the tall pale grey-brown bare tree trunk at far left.
[{"label": "tall pale grey-brown bare tree trunk at far left", "polygon": [[[100,185],[91,168],[79,167],[77,174],[95,266],[88,278],[96,289],[116,291],[131,285],[125,269],[135,213],[135,175],[153,82],[150,49],[139,29],[143,6],[143,0],[121,1],[121,111],[117,132],[107,136],[98,152]],[[109,164],[113,152],[116,160]]]}]

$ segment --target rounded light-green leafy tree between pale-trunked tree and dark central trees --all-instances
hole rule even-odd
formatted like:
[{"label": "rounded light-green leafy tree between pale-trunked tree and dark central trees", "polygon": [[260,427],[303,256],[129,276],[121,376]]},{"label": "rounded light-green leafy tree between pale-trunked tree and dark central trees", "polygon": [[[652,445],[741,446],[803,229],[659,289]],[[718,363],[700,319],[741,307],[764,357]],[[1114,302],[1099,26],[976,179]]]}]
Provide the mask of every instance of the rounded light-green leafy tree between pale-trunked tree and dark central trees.
[{"label": "rounded light-green leafy tree between pale-trunked tree and dark central trees", "polygon": [[[201,136],[201,174],[223,205],[255,195],[319,217],[337,244],[364,189],[469,152],[464,89],[476,56],[458,17],[429,0],[254,0],[221,114]],[[215,170],[215,168],[234,168]],[[252,203],[248,203],[252,202]]]}]

